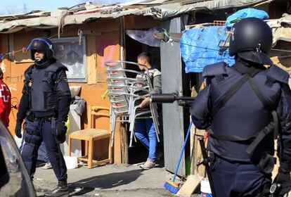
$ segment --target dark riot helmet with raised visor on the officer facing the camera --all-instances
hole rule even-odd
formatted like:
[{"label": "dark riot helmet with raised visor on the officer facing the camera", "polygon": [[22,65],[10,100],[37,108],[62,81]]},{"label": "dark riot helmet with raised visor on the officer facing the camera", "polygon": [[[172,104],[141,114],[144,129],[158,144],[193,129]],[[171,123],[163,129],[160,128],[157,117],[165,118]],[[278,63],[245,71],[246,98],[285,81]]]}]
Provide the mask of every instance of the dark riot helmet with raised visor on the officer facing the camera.
[{"label": "dark riot helmet with raised visor on the officer facing the camera", "polygon": [[32,60],[34,61],[34,53],[35,51],[44,51],[47,59],[53,58],[53,43],[48,38],[39,37],[36,39],[32,39],[30,45],[27,46],[26,51],[30,50]]}]

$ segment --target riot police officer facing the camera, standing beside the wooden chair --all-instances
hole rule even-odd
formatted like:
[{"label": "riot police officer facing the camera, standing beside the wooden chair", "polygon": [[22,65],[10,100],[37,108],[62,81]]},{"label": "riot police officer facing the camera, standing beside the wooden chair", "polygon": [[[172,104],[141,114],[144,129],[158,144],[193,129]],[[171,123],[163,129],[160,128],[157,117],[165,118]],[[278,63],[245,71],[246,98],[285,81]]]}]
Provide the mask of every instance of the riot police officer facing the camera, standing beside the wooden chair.
[{"label": "riot police officer facing the camera, standing beside the wooden chair", "polygon": [[65,122],[70,109],[71,95],[65,74],[67,68],[53,58],[53,44],[49,39],[33,39],[27,50],[31,51],[34,64],[25,71],[15,134],[22,136],[21,125],[26,117],[22,158],[30,176],[33,179],[37,151],[41,141],[44,141],[58,178],[58,187],[46,196],[68,196],[67,168],[59,145],[65,141]]}]

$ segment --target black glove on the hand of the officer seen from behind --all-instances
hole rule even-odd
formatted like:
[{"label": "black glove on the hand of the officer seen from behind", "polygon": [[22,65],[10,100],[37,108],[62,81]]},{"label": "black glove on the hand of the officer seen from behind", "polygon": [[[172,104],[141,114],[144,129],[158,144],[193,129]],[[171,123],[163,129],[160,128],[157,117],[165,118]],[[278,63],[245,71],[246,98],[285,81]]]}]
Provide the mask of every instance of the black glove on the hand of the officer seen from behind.
[{"label": "black glove on the hand of the officer seen from behind", "polygon": [[283,170],[279,167],[279,171],[274,182],[281,185],[279,196],[284,196],[285,193],[288,193],[291,190],[290,171]]}]

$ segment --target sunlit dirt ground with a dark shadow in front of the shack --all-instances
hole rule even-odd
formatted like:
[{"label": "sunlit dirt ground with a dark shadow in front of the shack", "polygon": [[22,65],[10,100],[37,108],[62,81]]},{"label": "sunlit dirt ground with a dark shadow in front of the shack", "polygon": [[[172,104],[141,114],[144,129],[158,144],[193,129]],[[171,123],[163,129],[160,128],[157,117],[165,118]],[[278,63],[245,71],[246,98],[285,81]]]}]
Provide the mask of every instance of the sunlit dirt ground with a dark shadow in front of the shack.
[{"label": "sunlit dirt ground with a dark shadow in front of the shack", "polygon": [[[70,196],[175,196],[164,189],[167,179],[164,167],[144,171],[138,165],[105,165],[92,169],[83,166],[67,170],[67,174]],[[54,189],[56,184],[53,170],[37,168],[34,186],[38,196]]]}]

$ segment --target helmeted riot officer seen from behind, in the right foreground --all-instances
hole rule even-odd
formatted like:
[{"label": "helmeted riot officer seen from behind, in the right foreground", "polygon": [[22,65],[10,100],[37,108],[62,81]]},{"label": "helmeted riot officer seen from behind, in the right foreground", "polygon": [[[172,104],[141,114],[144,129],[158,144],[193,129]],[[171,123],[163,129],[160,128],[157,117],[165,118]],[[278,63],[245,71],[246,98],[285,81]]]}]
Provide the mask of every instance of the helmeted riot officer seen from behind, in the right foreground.
[{"label": "helmeted riot officer seen from behind, in the right foreground", "polygon": [[[216,196],[269,196],[278,136],[278,196],[290,191],[291,92],[289,75],[273,65],[270,27],[257,18],[235,23],[229,53],[235,64],[207,65],[207,87],[190,108],[193,122],[209,131]],[[264,65],[271,65],[266,68]]]}]

